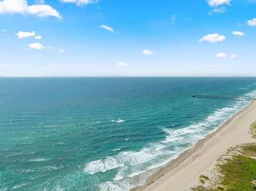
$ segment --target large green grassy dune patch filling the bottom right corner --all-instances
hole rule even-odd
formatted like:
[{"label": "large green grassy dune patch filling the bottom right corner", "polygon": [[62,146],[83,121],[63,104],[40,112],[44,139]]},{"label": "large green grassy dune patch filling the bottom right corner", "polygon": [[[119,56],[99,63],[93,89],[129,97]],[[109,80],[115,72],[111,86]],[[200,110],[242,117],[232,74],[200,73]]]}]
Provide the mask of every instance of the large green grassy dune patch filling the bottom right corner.
[{"label": "large green grassy dune patch filling the bottom right corner", "polygon": [[[243,145],[241,152],[218,164],[220,182],[215,187],[197,186],[193,191],[252,191],[256,190],[256,144]],[[200,181],[206,179],[201,175]],[[211,180],[209,180],[211,181]],[[201,181],[202,182],[202,181]],[[203,182],[202,182],[203,183]],[[204,184],[204,183],[203,183]]]}]

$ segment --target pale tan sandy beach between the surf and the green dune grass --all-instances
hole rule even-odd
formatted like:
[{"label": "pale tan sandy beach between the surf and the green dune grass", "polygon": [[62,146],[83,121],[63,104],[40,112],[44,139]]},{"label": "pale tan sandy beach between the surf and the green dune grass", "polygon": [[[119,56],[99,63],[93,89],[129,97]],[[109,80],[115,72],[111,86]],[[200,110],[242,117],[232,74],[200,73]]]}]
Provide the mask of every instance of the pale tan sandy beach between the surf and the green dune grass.
[{"label": "pale tan sandy beach between the surf and the green dune grass", "polygon": [[132,190],[190,190],[199,185],[199,176],[210,176],[216,159],[229,147],[252,143],[255,139],[248,133],[256,121],[256,101],[223,124],[218,130],[200,140],[195,147],[180,154],[169,165],[159,170],[144,186]]}]

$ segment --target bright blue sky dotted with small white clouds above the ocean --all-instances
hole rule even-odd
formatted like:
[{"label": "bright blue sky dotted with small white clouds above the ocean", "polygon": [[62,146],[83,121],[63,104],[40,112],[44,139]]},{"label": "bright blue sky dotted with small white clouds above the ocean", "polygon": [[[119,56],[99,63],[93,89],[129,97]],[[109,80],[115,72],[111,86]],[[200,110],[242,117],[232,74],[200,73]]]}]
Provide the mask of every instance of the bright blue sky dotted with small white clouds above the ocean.
[{"label": "bright blue sky dotted with small white clouds above the ocean", "polygon": [[256,76],[255,10],[256,0],[0,0],[0,76]]}]

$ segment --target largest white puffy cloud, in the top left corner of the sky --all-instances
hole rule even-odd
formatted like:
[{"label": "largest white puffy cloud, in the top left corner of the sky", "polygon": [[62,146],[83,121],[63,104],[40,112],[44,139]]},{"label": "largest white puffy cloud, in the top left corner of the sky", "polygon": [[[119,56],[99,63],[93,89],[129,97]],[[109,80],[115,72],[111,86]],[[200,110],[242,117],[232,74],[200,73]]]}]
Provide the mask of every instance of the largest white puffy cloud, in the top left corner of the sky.
[{"label": "largest white puffy cloud, in the top left corner of the sky", "polygon": [[26,0],[3,0],[0,1],[0,14],[18,13],[32,14],[36,17],[55,16],[61,19],[60,13],[50,5],[34,4],[28,5]]}]

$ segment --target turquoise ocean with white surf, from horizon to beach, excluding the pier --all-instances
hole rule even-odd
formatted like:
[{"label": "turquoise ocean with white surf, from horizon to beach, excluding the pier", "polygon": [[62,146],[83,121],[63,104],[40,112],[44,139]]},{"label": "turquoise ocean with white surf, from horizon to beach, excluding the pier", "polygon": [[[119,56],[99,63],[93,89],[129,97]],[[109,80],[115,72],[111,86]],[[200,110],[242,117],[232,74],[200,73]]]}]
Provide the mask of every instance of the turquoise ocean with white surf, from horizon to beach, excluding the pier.
[{"label": "turquoise ocean with white surf, from horizon to beach, excluding the pier", "polygon": [[129,190],[256,97],[256,78],[0,78],[0,190]]}]

